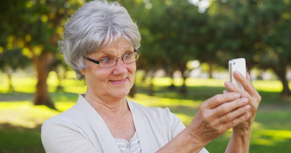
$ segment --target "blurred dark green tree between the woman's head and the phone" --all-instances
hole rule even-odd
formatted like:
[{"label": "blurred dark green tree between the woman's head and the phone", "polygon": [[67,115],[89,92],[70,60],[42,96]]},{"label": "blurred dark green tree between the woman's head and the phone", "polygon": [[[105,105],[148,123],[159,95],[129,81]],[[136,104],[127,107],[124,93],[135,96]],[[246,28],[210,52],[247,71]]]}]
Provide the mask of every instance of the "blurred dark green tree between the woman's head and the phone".
[{"label": "blurred dark green tree between the woman's head and the phone", "polygon": [[[184,74],[186,63],[194,59],[199,28],[205,26],[204,15],[188,1],[151,0],[145,12],[137,16],[143,42],[143,55],[152,70],[164,68],[169,74]],[[187,74],[183,75],[185,80]],[[185,82],[185,81],[184,81]],[[186,93],[183,83],[181,93]]]}]

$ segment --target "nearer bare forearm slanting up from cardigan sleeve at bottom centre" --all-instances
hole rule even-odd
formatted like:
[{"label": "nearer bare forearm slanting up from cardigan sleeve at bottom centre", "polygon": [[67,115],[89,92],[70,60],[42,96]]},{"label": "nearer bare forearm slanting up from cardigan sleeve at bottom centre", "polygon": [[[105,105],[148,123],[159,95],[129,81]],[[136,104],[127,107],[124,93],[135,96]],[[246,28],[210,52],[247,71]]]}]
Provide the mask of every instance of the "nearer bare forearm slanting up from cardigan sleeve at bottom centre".
[{"label": "nearer bare forearm slanting up from cardigan sleeve at bottom centre", "polygon": [[195,139],[185,128],[173,140],[164,145],[157,153],[199,153],[208,142]]}]

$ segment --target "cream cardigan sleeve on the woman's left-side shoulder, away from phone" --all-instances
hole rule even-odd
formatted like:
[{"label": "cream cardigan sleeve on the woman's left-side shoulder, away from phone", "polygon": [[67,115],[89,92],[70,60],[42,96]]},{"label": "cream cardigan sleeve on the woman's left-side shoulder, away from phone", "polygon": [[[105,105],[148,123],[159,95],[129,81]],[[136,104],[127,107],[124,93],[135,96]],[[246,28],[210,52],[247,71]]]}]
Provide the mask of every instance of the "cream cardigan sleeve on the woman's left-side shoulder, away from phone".
[{"label": "cream cardigan sleeve on the woman's left-side shoulder, away from phone", "polygon": [[46,153],[98,153],[98,149],[65,121],[49,119],[41,127]]}]

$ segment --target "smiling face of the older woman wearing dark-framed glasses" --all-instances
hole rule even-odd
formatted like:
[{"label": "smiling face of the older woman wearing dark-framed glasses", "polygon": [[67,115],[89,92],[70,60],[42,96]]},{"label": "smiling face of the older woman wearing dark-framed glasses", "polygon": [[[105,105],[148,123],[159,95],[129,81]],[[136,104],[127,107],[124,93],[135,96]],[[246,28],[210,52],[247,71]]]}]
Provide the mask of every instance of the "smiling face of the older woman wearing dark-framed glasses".
[{"label": "smiling face of the older woman wearing dark-framed glasses", "polygon": [[[133,45],[125,38],[120,38],[116,42],[105,44],[87,57],[99,61],[108,56],[122,57],[125,53],[133,51]],[[102,96],[123,98],[128,95],[134,83],[135,62],[126,64],[119,58],[113,67],[108,68],[101,68],[99,64],[88,60],[86,64],[87,68],[81,73],[86,78],[90,92],[101,98]]]}]

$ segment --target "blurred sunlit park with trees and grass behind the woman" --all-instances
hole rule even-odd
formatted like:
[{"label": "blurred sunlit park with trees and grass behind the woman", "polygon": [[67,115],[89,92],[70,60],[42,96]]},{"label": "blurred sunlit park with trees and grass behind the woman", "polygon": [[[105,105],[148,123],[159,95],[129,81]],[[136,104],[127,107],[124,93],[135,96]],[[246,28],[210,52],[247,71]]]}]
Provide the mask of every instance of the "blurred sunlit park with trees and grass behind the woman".
[{"label": "blurred sunlit park with trees and grass behind the woman", "polygon": [[[118,0],[142,35],[128,98],[169,107],[189,125],[225,89],[228,60],[245,58],[262,96],[251,153],[291,152],[291,0]],[[0,153],[45,153],[42,123],[86,92],[57,49],[67,18],[86,0],[0,5]],[[231,130],[206,149],[223,153]]]}]

